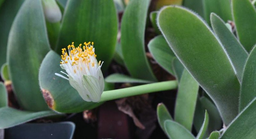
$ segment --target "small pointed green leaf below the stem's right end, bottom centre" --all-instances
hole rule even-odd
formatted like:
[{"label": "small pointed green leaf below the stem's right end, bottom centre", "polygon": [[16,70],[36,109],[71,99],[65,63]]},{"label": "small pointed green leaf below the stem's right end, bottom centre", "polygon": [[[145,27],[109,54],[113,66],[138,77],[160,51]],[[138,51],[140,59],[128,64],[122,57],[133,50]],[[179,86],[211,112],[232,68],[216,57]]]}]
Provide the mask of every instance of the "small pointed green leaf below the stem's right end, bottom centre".
[{"label": "small pointed green leaf below the stem's right end, bottom centre", "polygon": [[[160,125],[160,127],[164,130],[164,121],[166,120],[172,120],[172,116],[168,112],[168,109],[163,103],[159,103],[156,108],[156,114],[157,114],[157,120]],[[166,133],[166,132],[165,132]]]}]

